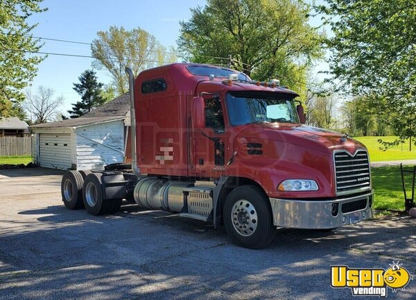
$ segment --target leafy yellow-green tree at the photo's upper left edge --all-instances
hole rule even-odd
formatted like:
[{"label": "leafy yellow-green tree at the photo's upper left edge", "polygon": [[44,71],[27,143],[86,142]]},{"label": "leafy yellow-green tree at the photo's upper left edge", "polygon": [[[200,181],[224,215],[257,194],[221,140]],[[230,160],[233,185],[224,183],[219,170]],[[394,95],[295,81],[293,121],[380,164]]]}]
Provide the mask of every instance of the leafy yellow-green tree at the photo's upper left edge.
[{"label": "leafy yellow-green tree at the photo's upper left edge", "polygon": [[31,37],[37,26],[28,25],[33,13],[43,12],[42,0],[0,0],[0,117],[15,115],[14,103],[24,100],[21,92],[33,79],[40,56],[28,55],[39,51],[39,40]]}]

